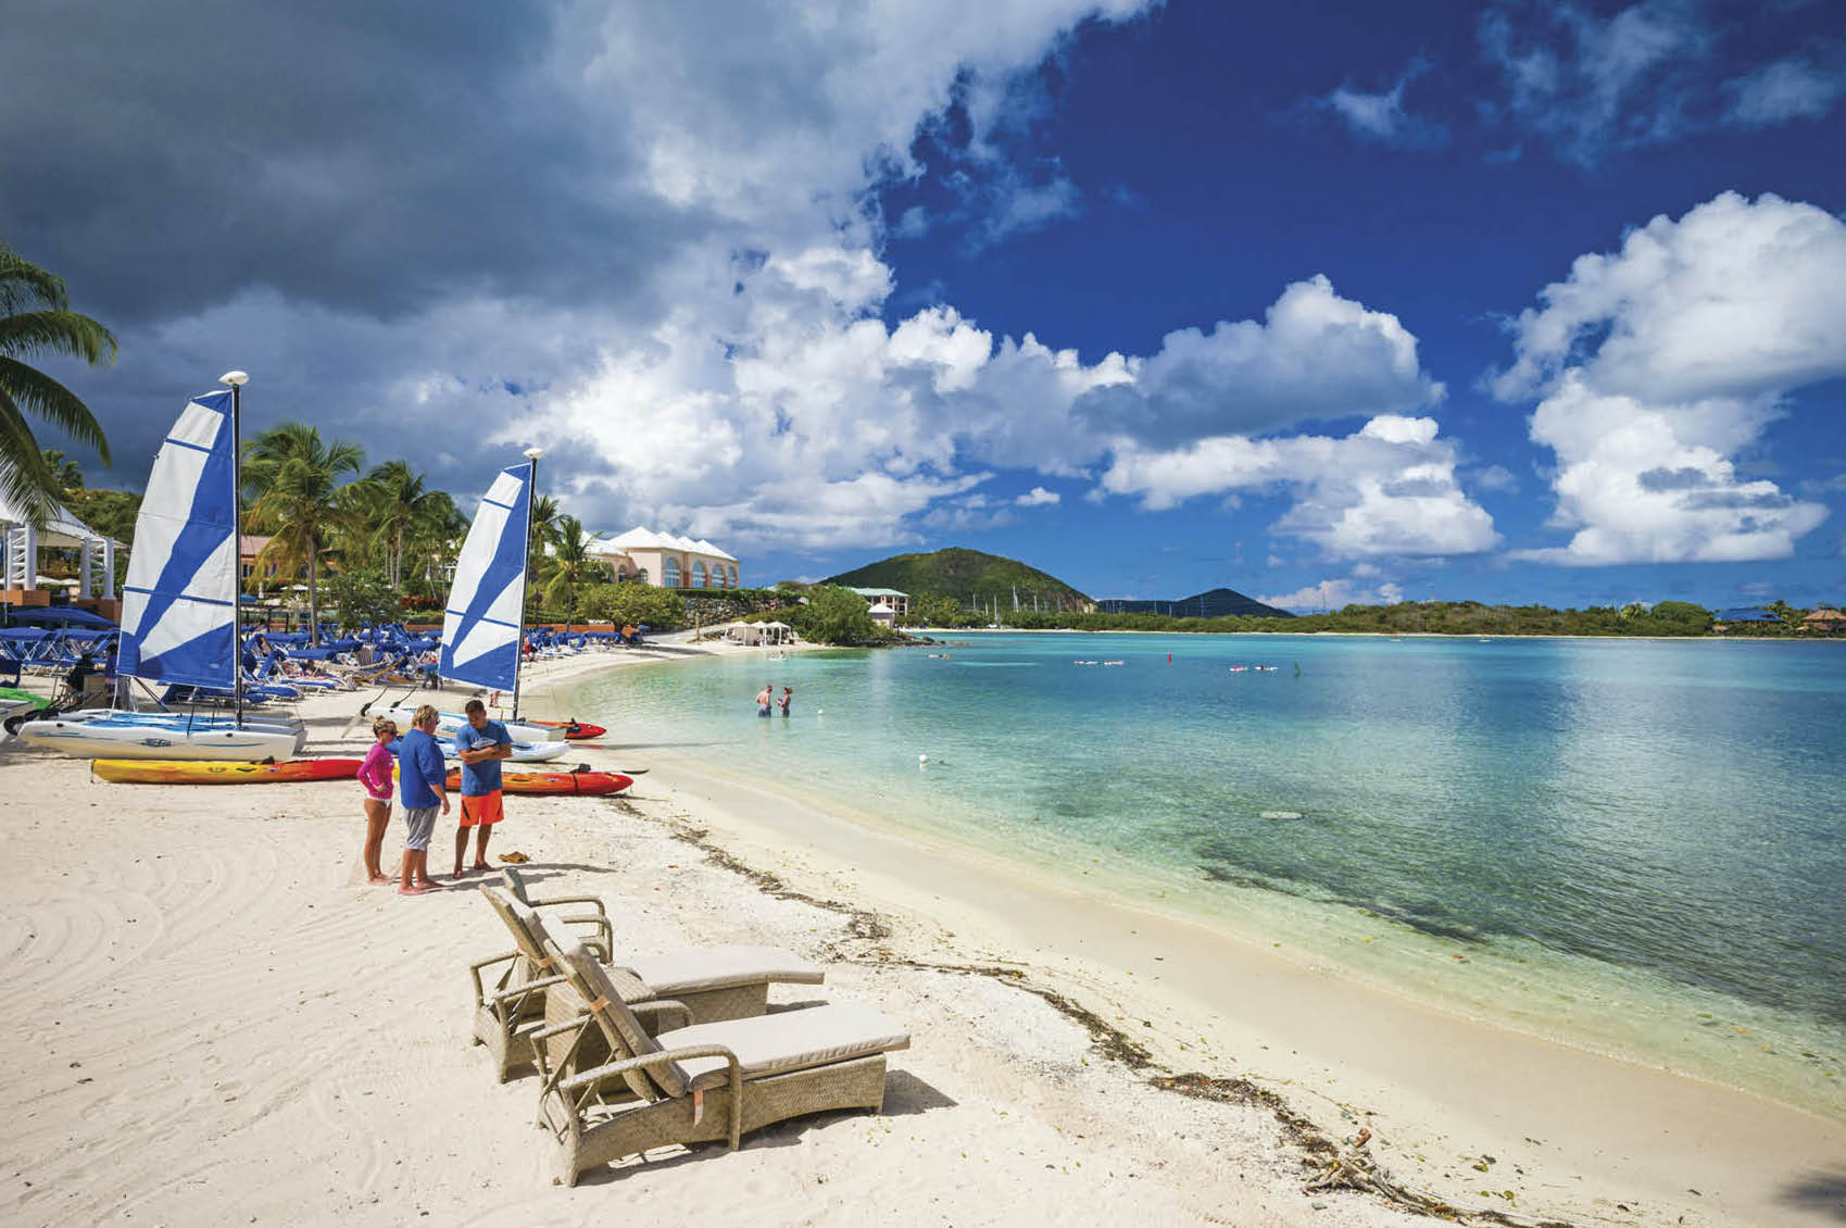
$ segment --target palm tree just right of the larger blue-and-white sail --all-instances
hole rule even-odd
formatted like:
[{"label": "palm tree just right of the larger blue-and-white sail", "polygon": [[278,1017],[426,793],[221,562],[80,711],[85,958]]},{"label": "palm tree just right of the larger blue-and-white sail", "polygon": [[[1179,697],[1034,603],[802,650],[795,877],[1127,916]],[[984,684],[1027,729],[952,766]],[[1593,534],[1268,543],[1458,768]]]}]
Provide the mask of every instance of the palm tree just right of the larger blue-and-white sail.
[{"label": "palm tree just right of the larger blue-and-white sail", "polygon": [[321,441],[306,423],[264,430],[244,451],[244,489],[255,499],[251,528],[270,534],[257,567],[308,572],[308,635],[319,641],[319,567],[329,536],[351,515],[342,508],[340,475],[358,476],[366,454],[356,443]]}]

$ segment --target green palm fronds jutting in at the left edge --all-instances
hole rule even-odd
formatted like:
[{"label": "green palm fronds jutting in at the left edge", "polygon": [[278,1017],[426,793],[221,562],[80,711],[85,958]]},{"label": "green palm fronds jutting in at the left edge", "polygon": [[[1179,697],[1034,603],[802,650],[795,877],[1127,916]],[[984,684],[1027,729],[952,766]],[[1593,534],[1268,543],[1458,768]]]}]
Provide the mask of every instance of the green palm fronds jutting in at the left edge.
[{"label": "green palm fronds jutting in at the left edge", "polygon": [[114,362],[109,329],[70,310],[65,281],[0,242],[0,499],[42,526],[57,500],[57,473],[31,438],[31,414],[109,464],[109,439],[74,391],[26,358],[65,356],[94,366]]}]

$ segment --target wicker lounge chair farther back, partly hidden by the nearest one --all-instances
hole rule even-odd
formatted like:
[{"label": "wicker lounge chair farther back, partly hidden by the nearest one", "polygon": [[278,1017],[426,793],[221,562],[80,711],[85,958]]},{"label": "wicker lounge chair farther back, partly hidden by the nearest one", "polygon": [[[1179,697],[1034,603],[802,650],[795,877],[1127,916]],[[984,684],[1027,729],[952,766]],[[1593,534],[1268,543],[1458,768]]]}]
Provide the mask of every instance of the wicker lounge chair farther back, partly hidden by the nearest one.
[{"label": "wicker lounge chair farther back, partly hidden by the nearest one", "polygon": [[[532,1062],[530,1034],[539,1027],[576,1019],[583,1014],[583,999],[559,975],[554,960],[537,938],[537,907],[581,905],[589,897],[541,901],[528,907],[491,885],[482,885],[482,896],[506,923],[513,936],[513,951],[469,964],[474,981],[474,1043],[493,1054],[500,1082]],[[585,947],[602,962],[609,962],[609,921],[600,910],[602,901],[591,901],[593,916],[559,918],[565,923],[600,921],[594,934],[578,934]],[[825,969],[812,960],[779,947],[690,947],[659,955],[624,957],[626,964],[609,968],[609,979],[628,1003],[670,999],[692,1023],[742,1019],[761,1016],[768,1008],[770,984],[821,984]],[[498,979],[489,981],[498,968]],[[557,1060],[567,1041],[554,1040]],[[605,1054],[585,1041],[585,1060],[600,1062]]]}]

